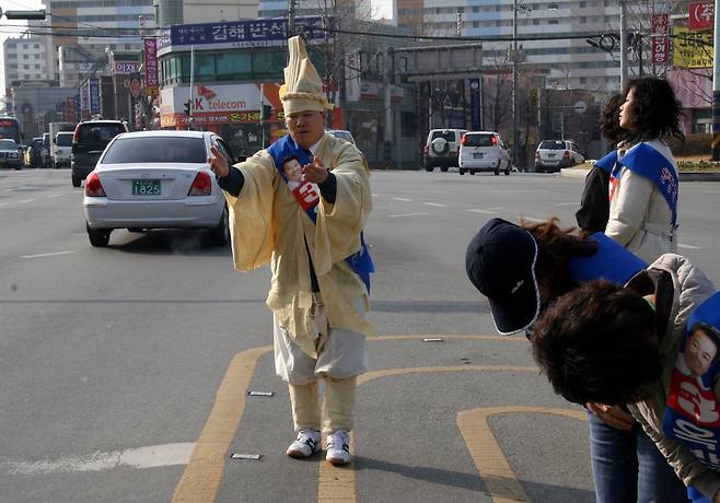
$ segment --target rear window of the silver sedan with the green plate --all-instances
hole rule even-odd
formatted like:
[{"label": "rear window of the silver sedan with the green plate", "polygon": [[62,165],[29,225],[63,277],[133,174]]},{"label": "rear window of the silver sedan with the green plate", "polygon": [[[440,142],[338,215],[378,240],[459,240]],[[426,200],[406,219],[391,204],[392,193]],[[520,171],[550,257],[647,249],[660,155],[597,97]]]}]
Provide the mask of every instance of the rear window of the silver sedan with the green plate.
[{"label": "rear window of the silver sedan with the green plate", "polygon": [[105,152],[103,164],[205,163],[202,138],[118,138]]}]

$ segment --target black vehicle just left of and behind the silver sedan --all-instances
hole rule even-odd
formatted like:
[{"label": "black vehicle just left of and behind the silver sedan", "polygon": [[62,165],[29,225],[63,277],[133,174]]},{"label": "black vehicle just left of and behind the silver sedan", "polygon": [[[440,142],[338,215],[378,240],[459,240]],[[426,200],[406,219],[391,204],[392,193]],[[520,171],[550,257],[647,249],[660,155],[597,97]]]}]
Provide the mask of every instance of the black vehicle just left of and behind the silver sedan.
[{"label": "black vehicle just left of and behind the silver sedan", "polygon": [[111,140],[127,131],[127,125],[120,120],[88,120],[76,127],[70,155],[73,187],[80,187],[82,180],[93,171]]}]

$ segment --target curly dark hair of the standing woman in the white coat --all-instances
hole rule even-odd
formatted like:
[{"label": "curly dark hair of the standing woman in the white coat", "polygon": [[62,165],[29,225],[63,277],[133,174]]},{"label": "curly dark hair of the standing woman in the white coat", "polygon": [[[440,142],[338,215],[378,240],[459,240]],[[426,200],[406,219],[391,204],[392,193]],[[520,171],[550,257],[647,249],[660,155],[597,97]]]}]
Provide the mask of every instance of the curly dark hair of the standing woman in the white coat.
[{"label": "curly dark hair of the standing woman in the white coat", "polygon": [[685,134],[680,129],[683,117],[682,104],[675,98],[675,92],[665,79],[658,77],[634,79],[625,89],[626,98],[630,90],[635,90],[637,117],[632,129],[626,130],[627,139],[631,143],[666,137],[685,141]]}]

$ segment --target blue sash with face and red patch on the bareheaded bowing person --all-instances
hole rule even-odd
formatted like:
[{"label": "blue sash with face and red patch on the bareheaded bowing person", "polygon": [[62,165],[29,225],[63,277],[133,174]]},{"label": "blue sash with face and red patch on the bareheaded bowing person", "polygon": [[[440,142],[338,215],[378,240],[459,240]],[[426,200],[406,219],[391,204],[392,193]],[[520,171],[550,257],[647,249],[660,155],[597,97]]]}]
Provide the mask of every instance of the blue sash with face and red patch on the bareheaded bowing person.
[{"label": "blue sash with face and red patch on the bareheaded bowing person", "polygon": [[[696,307],[687,320],[662,428],[665,436],[677,440],[708,467],[720,470],[720,398],[713,391],[720,378],[720,339],[702,336],[698,340],[698,325],[720,330],[720,292]],[[697,362],[694,369],[688,361]]]}]

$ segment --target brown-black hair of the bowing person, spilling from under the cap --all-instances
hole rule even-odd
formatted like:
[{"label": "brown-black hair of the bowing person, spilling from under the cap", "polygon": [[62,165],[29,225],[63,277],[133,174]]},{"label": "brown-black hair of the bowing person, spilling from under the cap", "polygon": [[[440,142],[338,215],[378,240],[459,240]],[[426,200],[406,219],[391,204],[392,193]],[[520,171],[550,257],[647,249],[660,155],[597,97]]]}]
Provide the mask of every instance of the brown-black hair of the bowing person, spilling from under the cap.
[{"label": "brown-black hair of the bowing person, spilling from under the cap", "polygon": [[529,224],[521,221],[537,243],[535,277],[544,286],[550,289],[551,299],[560,296],[578,286],[572,278],[568,262],[572,257],[589,257],[597,250],[597,243],[588,241],[577,227],[560,229],[555,217]]}]

